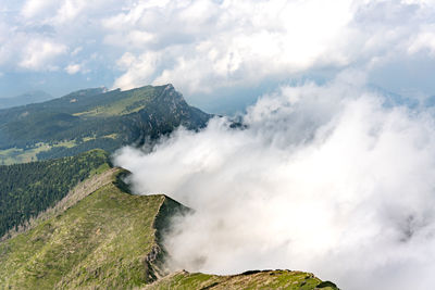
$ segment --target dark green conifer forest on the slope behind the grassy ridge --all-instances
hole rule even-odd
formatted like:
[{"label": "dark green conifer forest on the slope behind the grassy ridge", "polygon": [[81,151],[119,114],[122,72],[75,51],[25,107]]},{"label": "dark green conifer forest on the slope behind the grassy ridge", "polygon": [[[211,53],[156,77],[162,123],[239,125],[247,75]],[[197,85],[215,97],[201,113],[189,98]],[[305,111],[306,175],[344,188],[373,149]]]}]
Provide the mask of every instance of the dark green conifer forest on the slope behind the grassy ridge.
[{"label": "dark green conifer forest on the slope behind the grassy ridge", "polygon": [[0,166],[0,237],[63,199],[78,182],[110,167],[108,153]]}]

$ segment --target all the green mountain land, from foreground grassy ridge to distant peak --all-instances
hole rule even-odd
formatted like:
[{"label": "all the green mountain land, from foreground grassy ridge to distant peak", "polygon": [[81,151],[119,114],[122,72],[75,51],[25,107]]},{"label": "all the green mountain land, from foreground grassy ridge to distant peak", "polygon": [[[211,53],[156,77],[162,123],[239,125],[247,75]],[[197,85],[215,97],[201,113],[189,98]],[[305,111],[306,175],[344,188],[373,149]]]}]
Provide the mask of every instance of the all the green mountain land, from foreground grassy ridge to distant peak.
[{"label": "all the green mountain land, from foreground grassy ridge to distant peak", "polygon": [[167,275],[162,238],[189,210],[130,194],[109,153],[209,118],[171,85],[0,110],[0,289],[336,290],[290,270]]}]

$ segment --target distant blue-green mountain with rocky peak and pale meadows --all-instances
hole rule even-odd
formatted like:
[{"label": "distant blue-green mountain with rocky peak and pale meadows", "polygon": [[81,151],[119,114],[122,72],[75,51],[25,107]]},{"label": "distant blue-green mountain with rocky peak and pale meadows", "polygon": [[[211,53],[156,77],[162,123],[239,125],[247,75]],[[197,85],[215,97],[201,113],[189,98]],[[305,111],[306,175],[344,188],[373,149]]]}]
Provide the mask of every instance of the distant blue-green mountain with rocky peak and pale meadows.
[{"label": "distant blue-green mountain with rocky peak and pale meadows", "polygon": [[44,103],[0,110],[0,164],[108,152],[206,126],[211,115],[186,103],[172,85],[127,91],[86,89]]}]

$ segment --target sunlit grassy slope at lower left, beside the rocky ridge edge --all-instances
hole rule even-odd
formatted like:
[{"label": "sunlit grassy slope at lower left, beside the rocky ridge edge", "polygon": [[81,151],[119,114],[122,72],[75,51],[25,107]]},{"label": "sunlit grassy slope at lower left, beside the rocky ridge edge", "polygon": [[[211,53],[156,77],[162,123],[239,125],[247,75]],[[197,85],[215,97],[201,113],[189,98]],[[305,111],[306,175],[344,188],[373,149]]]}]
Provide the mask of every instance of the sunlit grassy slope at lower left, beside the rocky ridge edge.
[{"label": "sunlit grassy slope at lower left, beside the rocky ridge edge", "polygon": [[125,289],[149,282],[159,252],[154,219],[167,198],[128,194],[113,176],[63,213],[0,243],[0,286]]}]

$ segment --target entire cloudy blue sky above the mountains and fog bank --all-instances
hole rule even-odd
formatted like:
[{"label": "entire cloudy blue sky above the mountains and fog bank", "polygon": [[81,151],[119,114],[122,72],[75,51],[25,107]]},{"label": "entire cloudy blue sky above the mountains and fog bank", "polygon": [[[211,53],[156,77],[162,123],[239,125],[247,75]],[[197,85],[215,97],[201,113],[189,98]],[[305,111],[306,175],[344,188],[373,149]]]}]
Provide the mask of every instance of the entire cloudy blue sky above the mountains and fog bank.
[{"label": "entire cloudy blue sky above the mountains and fog bank", "polygon": [[172,83],[225,111],[351,70],[422,98],[435,92],[434,15],[432,0],[7,0],[0,96]]}]

